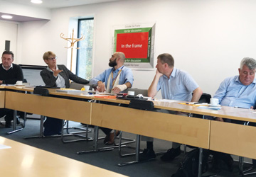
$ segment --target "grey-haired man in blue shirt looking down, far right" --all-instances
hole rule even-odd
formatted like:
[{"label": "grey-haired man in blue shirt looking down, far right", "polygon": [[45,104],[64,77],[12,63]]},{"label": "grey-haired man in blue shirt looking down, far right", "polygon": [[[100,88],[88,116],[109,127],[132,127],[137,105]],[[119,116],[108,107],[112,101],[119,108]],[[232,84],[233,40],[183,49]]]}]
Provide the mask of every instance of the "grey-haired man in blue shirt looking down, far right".
[{"label": "grey-haired man in blue shirt looking down, far right", "polygon": [[[220,105],[239,107],[239,108],[254,108],[256,103],[256,79],[255,79],[256,60],[245,57],[240,63],[238,69],[239,75],[225,79],[213,98],[218,98]],[[223,118],[215,118],[215,120],[224,122]],[[242,121],[232,120],[234,123],[243,124]],[[216,165],[220,164],[218,159],[223,159],[228,165],[230,171],[233,170],[233,159],[229,154],[214,153],[217,161]],[[214,161],[213,161],[214,162]],[[253,166],[256,167],[256,161],[252,160]],[[218,170],[219,166],[215,166]]]}]

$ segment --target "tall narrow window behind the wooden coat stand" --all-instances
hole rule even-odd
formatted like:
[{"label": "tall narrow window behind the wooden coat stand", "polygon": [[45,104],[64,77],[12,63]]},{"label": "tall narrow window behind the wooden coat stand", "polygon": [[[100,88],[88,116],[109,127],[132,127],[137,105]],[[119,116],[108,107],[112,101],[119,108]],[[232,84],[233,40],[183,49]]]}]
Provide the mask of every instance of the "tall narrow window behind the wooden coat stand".
[{"label": "tall narrow window behind the wooden coat stand", "polygon": [[93,18],[78,20],[78,38],[85,35],[85,40],[78,42],[76,74],[85,79],[92,78]]}]

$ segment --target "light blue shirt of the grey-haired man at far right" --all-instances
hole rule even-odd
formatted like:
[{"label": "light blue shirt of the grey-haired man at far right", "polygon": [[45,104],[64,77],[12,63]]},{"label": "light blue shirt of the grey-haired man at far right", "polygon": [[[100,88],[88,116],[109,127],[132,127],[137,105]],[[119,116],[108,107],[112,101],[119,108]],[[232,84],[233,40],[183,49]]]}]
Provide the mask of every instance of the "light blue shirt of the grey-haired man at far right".
[{"label": "light blue shirt of the grey-haired man at far right", "polygon": [[245,86],[239,76],[233,76],[221,82],[213,98],[218,98],[220,105],[250,108],[256,103],[256,80]]}]

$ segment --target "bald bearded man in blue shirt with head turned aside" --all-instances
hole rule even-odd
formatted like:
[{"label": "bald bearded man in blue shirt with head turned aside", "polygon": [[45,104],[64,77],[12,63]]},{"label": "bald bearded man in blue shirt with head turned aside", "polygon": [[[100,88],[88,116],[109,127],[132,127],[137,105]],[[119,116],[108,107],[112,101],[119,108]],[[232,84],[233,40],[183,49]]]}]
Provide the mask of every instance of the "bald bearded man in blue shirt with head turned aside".
[{"label": "bald bearded man in blue shirt with head turned aside", "polygon": [[[97,86],[98,91],[106,91],[107,93],[119,93],[132,87],[134,81],[132,70],[124,67],[124,59],[123,52],[115,52],[110,58],[109,65],[111,68],[91,79],[90,85]],[[107,145],[113,144],[114,130],[105,127],[101,127],[101,130],[106,134],[104,143]],[[116,134],[119,134],[119,131]]]}]

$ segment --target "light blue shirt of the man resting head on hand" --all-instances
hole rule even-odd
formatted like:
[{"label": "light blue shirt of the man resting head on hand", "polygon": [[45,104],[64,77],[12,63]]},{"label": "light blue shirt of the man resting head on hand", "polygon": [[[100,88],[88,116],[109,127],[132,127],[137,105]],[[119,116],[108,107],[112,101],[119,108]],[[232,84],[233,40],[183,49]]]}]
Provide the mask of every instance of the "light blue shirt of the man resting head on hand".
[{"label": "light blue shirt of the man resting head on hand", "polygon": [[161,89],[161,95],[164,99],[191,101],[192,91],[198,87],[190,74],[174,67],[170,78],[165,75],[160,77],[156,89],[157,91]]}]

